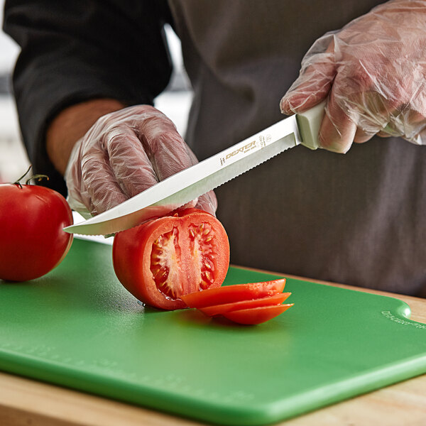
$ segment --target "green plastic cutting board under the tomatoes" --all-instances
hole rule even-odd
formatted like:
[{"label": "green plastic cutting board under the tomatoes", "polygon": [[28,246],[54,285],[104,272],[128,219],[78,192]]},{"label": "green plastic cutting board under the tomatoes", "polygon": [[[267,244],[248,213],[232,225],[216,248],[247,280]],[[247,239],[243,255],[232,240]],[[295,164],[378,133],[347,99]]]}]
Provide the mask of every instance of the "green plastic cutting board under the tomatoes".
[{"label": "green plastic cutting board under the tomatoes", "polygon": [[[230,268],[225,284],[270,280]],[[295,305],[242,326],[143,307],[111,246],[76,239],[58,268],[0,281],[0,369],[226,425],[263,425],[426,372],[426,325],[391,297],[288,278]]]}]

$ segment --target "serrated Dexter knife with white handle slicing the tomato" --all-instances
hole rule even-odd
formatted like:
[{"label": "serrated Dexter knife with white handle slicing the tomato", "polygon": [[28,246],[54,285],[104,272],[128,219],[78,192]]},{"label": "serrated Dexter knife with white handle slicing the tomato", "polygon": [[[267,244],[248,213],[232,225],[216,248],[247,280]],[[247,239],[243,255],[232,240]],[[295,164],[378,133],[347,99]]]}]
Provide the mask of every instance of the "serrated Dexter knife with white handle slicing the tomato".
[{"label": "serrated Dexter knife with white handle slicing the tomato", "polygon": [[163,216],[223,185],[288,148],[318,148],[325,101],[244,139],[224,151],[158,182],[135,197],[65,231],[83,235],[114,234]]}]

